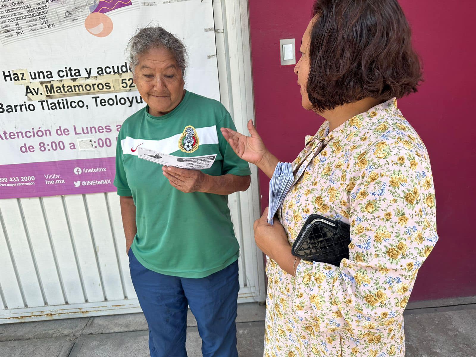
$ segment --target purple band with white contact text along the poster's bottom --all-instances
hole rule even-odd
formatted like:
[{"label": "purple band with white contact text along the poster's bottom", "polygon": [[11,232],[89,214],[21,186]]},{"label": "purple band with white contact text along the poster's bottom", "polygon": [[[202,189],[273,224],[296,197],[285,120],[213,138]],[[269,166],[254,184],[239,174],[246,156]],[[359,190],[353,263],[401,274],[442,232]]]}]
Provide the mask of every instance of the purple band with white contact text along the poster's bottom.
[{"label": "purple band with white contact text along the poster's bottom", "polygon": [[114,192],[115,158],[0,165],[0,199]]}]

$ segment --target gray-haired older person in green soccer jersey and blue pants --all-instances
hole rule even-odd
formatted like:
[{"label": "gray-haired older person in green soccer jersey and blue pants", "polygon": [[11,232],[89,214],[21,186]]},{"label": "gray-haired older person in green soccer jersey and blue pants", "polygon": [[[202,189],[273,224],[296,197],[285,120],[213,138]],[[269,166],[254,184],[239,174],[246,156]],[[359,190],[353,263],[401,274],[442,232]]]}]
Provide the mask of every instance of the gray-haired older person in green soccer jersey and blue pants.
[{"label": "gray-haired older person in green soccer jersey and blue pants", "polygon": [[[233,121],[218,101],[184,89],[186,51],[174,35],[144,28],[128,50],[147,105],[120,129],[114,184],[130,275],[149,324],[150,355],[187,356],[189,306],[203,355],[238,356],[239,246],[228,195],[248,188],[250,170],[220,134]],[[139,148],[216,159],[204,170],[162,167],[141,159]]]}]

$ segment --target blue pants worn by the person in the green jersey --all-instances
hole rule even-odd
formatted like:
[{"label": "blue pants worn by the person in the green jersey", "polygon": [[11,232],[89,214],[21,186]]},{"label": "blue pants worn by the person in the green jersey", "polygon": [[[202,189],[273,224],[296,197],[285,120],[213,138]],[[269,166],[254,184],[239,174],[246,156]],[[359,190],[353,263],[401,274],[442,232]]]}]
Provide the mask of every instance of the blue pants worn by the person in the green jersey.
[{"label": "blue pants worn by the person in the green jersey", "polygon": [[129,249],[130,277],[149,324],[151,357],[187,357],[187,310],[197,319],[203,357],[238,357],[238,261],[206,278],[149,270]]}]

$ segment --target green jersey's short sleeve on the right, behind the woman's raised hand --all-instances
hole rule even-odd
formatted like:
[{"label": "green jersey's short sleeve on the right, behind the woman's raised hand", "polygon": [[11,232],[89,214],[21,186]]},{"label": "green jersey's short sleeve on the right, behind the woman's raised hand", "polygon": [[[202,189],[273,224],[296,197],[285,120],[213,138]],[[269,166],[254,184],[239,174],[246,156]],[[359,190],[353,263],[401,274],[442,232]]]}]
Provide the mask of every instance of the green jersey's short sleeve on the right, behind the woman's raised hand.
[{"label": "green jersey's short sleeve on the right, behind the woman's raised hand", "polygon": [[240,159],[235,153],[235,151],[231,149],[227,140],[225,140],[225,138],[221,134],[220,128],[230,128],[236,130],[235,123],[233,123],[233,120],[231,119],[231,116],[228,112],[217,125],[218,146],[220,149],[220,153],[223,156],[223,167],[221,170],[221,174],[231,174],[237,176],[251,175],[248,162]]}]

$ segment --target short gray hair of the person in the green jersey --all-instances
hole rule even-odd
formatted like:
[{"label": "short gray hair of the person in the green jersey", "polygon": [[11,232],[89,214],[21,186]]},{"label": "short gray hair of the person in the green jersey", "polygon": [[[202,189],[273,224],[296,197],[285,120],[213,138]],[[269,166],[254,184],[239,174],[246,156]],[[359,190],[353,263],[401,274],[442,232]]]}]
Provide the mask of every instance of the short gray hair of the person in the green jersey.
[{"label": "short gray hair of the person in the green jersey", "polygon": [[182,77],[185,78],[185,69],[188,64],[187,49],[177,36],[160,26],[138,29],[136,34],[129,40],[126,52],[129,68],[132,73],[134,73],[136,66],[139,64],[140,55],[151,49],[162,48],[168,50],[175,57],[178,67],[182,71]]}]

